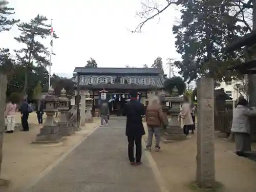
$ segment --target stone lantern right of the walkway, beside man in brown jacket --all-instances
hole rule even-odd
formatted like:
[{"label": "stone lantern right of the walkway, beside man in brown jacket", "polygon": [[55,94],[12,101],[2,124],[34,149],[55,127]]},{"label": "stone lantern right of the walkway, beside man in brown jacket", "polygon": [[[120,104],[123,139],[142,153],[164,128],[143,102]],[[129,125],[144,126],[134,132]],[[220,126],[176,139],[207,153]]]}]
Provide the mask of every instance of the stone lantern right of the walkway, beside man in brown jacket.
[{"label": "stone lantern right of the walkway, beside man in brown jacket", "polygon": [[180,122],[178,121],[180,113],[180,103],[183,102],[183,98],[178,96],[178,89],[174,87],[173,94],[168,98],[171,103],[170,109],[168,110],[171,118],[169,120],[166,129],[164,130],[163,138],[168,140],[185,140],[186,135],[183,133],[183,129],[180,127]]}]

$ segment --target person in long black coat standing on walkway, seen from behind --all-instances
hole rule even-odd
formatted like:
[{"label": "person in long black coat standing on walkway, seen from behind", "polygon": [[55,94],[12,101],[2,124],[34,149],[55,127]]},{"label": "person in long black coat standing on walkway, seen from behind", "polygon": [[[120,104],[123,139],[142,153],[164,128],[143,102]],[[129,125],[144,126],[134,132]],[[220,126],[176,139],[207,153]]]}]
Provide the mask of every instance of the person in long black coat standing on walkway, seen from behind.
[{"label": "person in long black coat standing on walkway, seen from behind", "polygon": [[[128,156],[131,165],[141,165],[142,146],[141,139],[145,135],[142,124],[142,116],[145,115],[144,105],[137,100],[137,92],[130,94],[131,101],[124,105],[123,116],[126,115],[125,134],[128,139]],[[134,159],[134,142],[136,145],[136,157]]]}]

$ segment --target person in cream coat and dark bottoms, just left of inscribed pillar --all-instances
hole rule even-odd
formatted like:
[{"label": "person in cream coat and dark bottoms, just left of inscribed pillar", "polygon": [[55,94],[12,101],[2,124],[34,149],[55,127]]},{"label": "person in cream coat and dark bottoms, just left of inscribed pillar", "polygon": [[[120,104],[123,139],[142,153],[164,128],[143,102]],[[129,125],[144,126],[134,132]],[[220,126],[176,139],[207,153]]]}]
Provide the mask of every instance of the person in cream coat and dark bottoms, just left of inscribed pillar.
[{"label": "person in cream coat and dark bottoms, just left of inscribed pillar", "polygon": [[186,96],[184,96],[184,102],[181,106],[180,117],[183,120],[183,132],[187,136],[187,138],[190,138],[190,136],[188,135],[189,130],[193,129],[194,123],[191,116],[190,104]]}]

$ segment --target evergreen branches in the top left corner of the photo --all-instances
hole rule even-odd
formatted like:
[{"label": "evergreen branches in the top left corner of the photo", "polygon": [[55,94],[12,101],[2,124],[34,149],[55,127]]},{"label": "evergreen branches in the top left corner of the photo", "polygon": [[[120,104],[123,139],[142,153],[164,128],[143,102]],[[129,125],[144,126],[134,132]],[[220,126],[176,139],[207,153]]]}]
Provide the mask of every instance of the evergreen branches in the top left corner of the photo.
[{"label": "evergreen branches in the top left corner of the photo", "polygon": [[7,7],[9,2],[0,1],[0,32],[9,31],[11,27],[19,20],[10,19],[9,16],[14,14],[13,8]]}]

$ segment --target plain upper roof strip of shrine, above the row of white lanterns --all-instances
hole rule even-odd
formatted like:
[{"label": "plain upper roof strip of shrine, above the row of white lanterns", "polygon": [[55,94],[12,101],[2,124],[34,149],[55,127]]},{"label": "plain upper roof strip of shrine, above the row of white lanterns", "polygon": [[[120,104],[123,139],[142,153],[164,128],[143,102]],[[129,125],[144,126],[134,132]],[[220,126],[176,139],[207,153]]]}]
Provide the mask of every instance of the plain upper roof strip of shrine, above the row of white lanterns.
[{"label": "plain upper roof strip of shrine, above the row of white lanterns", "polygon": [[123,74],[160,74],[162,71],[157,68],[75,68],[74,73],[82,74],[103,74],[103,73],[123,73]]}]

